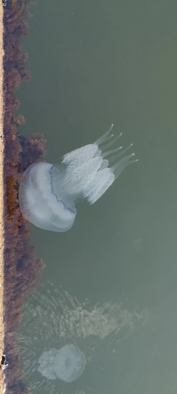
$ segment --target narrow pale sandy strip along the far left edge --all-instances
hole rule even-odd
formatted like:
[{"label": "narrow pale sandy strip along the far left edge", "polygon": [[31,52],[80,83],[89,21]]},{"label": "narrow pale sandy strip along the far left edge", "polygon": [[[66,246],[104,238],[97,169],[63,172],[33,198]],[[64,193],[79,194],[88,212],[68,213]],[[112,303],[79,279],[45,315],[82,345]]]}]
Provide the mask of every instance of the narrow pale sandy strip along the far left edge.
[{"label": "narrow pale sandy strip along the far left edge", "polygon": [[[0,362],[2,359],[3,350],[3,6],[0,1]],[[4,392],[4,380],[2,376],[2,370],[0,370],[0,394]]]}]

